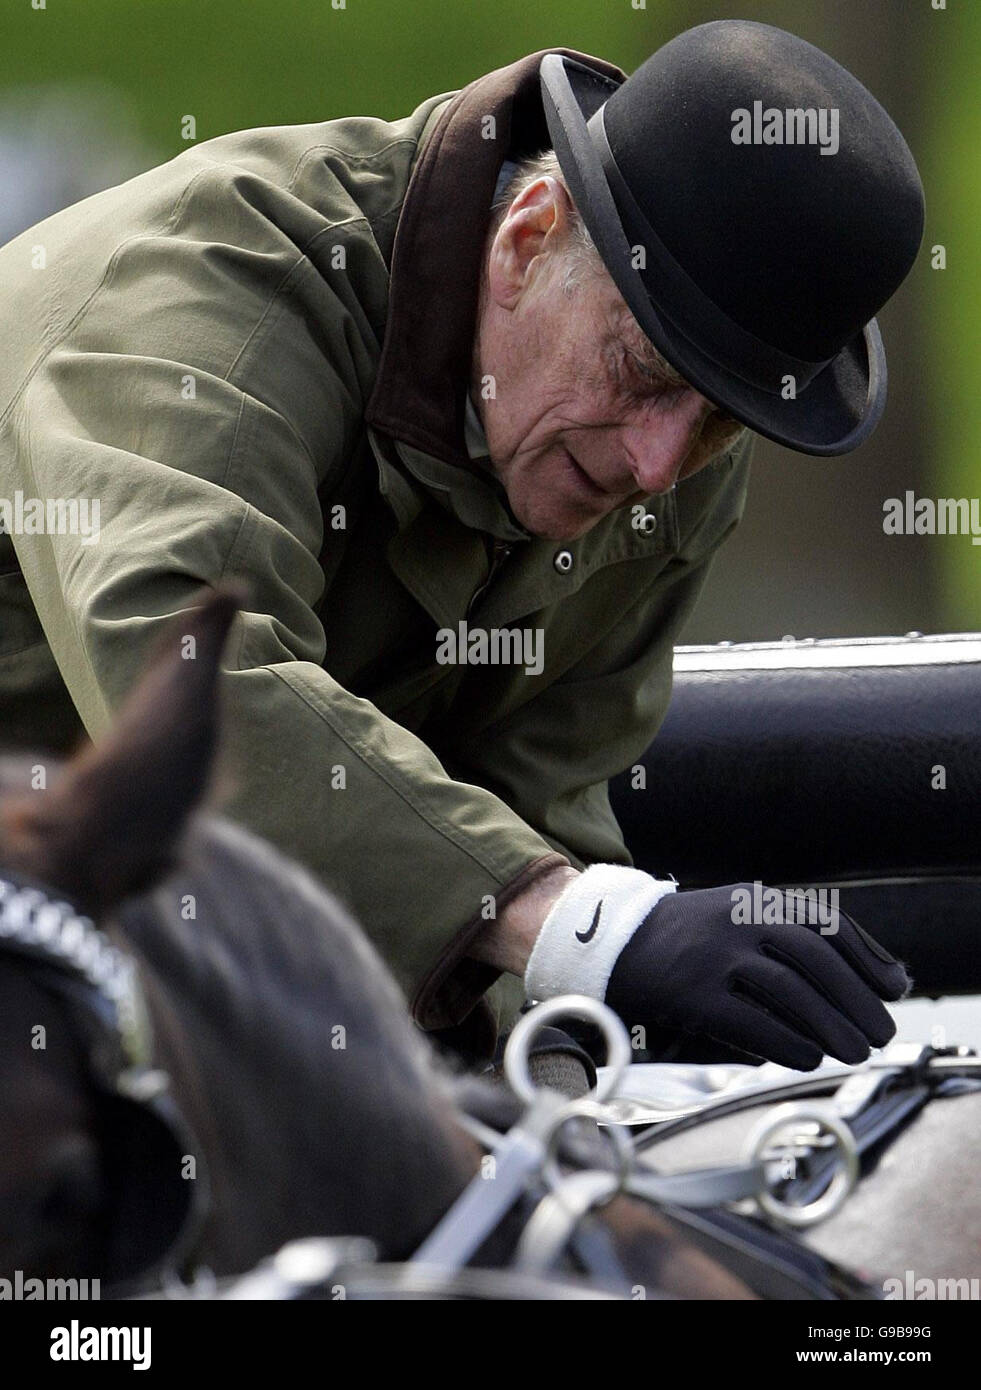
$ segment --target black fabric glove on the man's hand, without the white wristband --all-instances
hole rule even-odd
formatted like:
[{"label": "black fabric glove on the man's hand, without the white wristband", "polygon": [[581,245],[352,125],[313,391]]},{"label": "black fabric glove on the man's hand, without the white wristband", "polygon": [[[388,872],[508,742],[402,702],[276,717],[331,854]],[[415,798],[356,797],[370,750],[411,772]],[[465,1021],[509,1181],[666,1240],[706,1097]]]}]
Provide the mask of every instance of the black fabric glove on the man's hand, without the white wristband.
[{"label": "black fabric glove on the man's hand, without the white wristband", "polygon": [[736,923],[736,890],[752,898],[752,884],[673,892],[641,922],[606,988],[627,1027],[704,1034],[803,1072],[824,1052],[855,1065],[884,1047],[895,1023],[881,1001],[907,992],[903,966],[845,912],[795,922],[786,895],[771,913],[786,924]]}]

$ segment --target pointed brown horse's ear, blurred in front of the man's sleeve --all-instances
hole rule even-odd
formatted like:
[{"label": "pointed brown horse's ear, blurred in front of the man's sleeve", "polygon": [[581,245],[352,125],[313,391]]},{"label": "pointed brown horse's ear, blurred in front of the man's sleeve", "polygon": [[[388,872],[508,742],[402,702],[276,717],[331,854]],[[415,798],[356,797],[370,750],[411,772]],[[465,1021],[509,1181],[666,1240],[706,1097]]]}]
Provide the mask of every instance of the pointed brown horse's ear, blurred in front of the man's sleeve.
[{"label": "pointed brown horse's ear, blurred in front of the man's sleeve", "polygon": [[100,915],[174,863],[211,776],[218,673],[240,584],[174,620],[113,730],[46,791],[0,802],[4,859]]}]

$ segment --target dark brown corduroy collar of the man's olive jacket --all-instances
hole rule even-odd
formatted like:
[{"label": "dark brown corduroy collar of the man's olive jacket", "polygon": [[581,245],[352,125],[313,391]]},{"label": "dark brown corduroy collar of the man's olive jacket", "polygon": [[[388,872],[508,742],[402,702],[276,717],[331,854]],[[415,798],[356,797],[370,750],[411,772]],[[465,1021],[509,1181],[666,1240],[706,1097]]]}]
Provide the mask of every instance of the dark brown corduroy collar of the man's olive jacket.
[{"label": "dark brown corduroy collar of the man's olive jacket", "polygon": [[395,236],[385,342],[365,423],[464,468],[464,403],[490,200],[506,158],[550,145],[538,76],[547,51],[625,78],[602,58],[545,49],[463,88],[417,160]]}]

